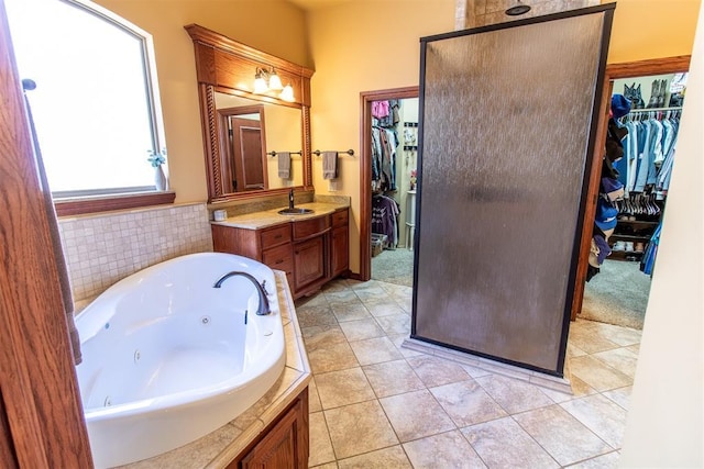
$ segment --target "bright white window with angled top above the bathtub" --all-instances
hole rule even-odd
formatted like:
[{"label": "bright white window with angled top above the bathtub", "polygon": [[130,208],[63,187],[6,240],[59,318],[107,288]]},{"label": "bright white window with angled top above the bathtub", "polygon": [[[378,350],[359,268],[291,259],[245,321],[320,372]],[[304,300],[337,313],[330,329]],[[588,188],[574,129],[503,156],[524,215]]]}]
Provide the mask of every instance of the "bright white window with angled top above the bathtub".
[{"label": "bright white window with angled top above the bathtub", "polygon": [[6,4],[54,199],[155,191],[147,157],[165,143],[151,35],[87,0]]}]

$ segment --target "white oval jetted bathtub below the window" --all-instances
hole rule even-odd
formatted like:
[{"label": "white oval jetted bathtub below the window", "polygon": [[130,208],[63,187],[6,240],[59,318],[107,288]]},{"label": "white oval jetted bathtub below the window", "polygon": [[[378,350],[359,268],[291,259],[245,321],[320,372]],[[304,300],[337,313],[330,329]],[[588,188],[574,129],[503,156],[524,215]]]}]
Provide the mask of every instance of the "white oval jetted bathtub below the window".
[{"label": "white oval jetted bathtub below the window", "polygon": [[[270,314],[256,314],[263,302],[244,275],[213,287],[232,271],[265,281]],[[97,467],[156,456],[217,429],[264,395],[286,361],[274,272],[230,254],[139,271],[90,303],[76,325]]]}]

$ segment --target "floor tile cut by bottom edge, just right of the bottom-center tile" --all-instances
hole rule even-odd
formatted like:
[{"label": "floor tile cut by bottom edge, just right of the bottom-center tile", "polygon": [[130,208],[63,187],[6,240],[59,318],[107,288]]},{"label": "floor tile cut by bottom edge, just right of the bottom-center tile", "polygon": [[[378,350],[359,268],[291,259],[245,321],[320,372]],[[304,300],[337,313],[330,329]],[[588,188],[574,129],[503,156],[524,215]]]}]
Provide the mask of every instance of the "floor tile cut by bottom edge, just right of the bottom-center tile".
[{"label": "floor tile cut by bottom edge, just right of the bottom-center tile", "polygon": [[459,431],[404,443],[404,449],[416,469],[486,467]]}]

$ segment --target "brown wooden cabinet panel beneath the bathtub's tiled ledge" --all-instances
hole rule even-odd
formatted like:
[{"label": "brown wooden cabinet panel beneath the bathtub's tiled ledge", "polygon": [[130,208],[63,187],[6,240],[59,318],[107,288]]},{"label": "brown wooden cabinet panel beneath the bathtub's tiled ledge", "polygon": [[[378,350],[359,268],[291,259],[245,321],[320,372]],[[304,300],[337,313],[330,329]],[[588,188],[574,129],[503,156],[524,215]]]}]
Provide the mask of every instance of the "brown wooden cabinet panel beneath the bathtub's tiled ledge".
[{"label": "brown wooden cabinet panel beneath the bathtub's tiled ledge", "polygon": [[308,418],[306,388],[228,469],[307,469]]}]

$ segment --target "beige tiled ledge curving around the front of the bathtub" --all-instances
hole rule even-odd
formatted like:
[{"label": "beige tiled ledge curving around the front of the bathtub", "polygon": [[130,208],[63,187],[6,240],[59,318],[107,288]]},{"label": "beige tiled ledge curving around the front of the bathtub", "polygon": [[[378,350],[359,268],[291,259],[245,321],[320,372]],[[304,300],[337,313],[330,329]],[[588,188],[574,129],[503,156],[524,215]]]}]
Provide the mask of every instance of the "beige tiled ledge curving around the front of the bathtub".
[{"label": "beige tiled ledge curving around the front of the bathtub", "polygon": [[185,461],[194,468],[227,467],[306,389],[312,375],[294,300],[286,273],[274,270],[274,275],[286,337],[286,367],[278,380],[254,405],[215,432],[168,453],[120,468],[167,469],[183,467]]}]

